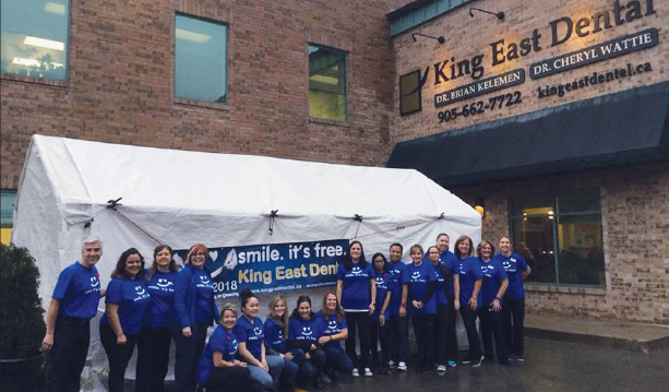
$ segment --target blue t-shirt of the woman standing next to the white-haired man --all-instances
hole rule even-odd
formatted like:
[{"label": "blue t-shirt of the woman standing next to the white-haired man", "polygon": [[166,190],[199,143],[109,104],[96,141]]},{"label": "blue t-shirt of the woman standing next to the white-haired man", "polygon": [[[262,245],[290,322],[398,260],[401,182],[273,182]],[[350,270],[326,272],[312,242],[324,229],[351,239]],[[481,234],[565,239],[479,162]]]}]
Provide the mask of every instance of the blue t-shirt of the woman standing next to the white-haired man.
[{"label": "blue t-shirt of the woman standing next to the white-haired man", "polygon": [[[115,277],[107,286],[107,304],[119,306],[118,314],[121,328],[126,334],[140,332],[144,312],[151,304],[151,295],[146,288],[146,281],[142,278],[123,280]],[[107,312],[100,318],[100,324],[109,325]]]}]

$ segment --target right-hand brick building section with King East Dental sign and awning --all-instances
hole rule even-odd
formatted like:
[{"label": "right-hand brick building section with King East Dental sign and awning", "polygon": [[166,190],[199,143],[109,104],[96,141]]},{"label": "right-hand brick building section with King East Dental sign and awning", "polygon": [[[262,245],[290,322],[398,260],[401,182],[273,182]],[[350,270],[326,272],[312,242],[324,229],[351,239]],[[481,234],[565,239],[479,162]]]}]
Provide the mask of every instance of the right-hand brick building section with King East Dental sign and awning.
[{"label": "right-hand brick building section with King East Dental sign and awning", "polygon": [[667,4],[445,3],[389,15],[389,166],[485,203],[531,311],[669,323]]}]

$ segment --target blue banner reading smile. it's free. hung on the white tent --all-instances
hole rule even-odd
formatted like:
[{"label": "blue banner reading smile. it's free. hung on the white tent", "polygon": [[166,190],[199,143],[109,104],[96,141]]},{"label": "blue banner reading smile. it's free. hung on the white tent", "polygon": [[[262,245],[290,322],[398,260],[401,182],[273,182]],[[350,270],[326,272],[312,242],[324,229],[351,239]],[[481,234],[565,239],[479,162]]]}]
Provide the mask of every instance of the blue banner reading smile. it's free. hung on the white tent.
[{"label": "blue banner reading smile. it's free. hung on the white tent", "polygon": [[[243,288],[263,294],[331,286],[347,249],[346,239],[210,248],[204,268],[214,280],[216,299]],[[183,264],[187,253],[176,250],[175,261]]]}]

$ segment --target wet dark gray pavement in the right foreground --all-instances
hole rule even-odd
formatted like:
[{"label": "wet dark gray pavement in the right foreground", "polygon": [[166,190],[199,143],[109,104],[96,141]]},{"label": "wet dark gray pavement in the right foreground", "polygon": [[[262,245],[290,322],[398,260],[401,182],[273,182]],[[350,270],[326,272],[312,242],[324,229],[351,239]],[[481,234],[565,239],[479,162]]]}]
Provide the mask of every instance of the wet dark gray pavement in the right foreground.
[{"label": "wet dark gray pavement in the right foreground", "polygon": [[458,365],[443,375],[437,371],[393,372],[373,377],[343,376],[322,392],[355,391],[667,391],[669,348],[650,353],[537,338],[525,340],[525,363],[479,368]]}]

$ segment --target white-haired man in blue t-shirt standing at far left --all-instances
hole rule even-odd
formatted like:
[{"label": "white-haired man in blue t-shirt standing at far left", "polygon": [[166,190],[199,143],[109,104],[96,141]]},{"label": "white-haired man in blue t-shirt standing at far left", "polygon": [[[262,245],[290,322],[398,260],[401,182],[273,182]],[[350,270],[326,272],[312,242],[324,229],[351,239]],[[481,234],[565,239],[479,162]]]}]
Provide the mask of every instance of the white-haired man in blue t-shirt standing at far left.
[{"label": "white-haired man in blue t-shirt standing at far left", "polygon": [[51,351],[49,392],[80,390],[91,343],[91,319],[97,314],[99,298],[105,295],[95,268],[101,256],[101,240],[89,236],[82,243],[81,259],[58,276],[41,342],[43,349]]}]

